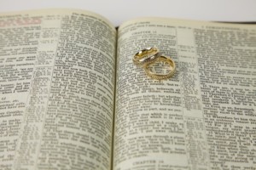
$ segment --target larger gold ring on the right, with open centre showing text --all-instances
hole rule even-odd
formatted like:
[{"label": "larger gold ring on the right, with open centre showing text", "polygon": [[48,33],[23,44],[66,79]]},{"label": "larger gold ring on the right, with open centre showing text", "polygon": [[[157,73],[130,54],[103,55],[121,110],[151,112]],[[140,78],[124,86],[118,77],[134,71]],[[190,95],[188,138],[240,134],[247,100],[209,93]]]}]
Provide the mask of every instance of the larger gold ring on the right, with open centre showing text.
[{"label": "larger gold ring on the right, with open centre showing text", "polygon": [[[172,67],[172,71],[169,71],[167,74],[156,74],[156,73],[150,71],[150,69],[148,69],[149,65],[153,65],[154,63],[160,62],[160,61],[167,62]],[[175,68],[176,68],[176,66],[175,66],[174,61],[172,59],[167,58],[166,56],[162,56],[162,55],[153,63],[146,63],[144,65],[144,71],[146,72],[147,76],[151,77],[153,79],[156,79],[156,80],[165,80],[169,77],[172,77],[175,73]]]}]

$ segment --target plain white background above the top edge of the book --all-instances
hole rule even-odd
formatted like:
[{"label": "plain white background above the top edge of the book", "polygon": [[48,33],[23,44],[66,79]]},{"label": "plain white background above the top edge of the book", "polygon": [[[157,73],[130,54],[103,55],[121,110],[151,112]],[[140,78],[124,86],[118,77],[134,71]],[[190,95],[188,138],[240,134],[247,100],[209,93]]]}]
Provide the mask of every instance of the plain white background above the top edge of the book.
[{"label": "plain white background above the top edge of the book", "polygon": [[256,0],[0,0],[0,12],[39,8],[90,10],[102,14],[114,26],[139,16],[256,21]]}]

